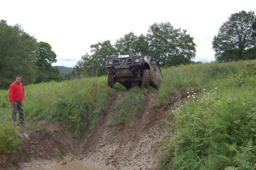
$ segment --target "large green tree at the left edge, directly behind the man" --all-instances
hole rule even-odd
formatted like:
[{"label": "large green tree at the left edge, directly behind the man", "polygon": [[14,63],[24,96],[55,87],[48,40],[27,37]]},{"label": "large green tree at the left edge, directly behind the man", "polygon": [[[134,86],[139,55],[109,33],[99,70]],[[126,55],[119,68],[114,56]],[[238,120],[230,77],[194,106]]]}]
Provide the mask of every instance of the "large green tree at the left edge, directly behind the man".
[{"label": "large green tree at the left edge, directly behind the man", "polygon": [[8,89],[20,75],[24,85],[36,80],[36,38],[21,29],[0,22],[0,88]]}]

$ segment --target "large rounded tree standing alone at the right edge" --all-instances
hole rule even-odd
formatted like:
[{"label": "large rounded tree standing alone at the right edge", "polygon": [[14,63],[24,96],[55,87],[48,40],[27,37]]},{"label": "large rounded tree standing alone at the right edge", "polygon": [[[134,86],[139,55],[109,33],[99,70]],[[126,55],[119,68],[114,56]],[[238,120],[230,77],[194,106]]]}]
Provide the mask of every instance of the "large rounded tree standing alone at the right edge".
[{"label": "large rounded tree standing alone at the right edge", "polygon": [[222,24],[218,35],[214,36],[212,41],[217,60],[245,60],[255,56],[253,47],[256,45],[256,37],[252,36],[255,34],[252,29],[255,19],[254,12],[241,11],[232,14],[228,21]]}]

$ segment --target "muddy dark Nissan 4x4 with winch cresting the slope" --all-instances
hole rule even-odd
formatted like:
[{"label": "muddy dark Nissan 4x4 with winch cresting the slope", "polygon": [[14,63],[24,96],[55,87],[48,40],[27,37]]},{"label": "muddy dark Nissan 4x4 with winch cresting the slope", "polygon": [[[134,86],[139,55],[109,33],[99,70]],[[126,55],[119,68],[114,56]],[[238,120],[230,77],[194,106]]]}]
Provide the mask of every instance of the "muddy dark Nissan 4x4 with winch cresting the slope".
[{"label": "muddy dark Nissan 4x4 with winch cresting the slope", "polygon": [[106,59],[108,69],[108,86],[113,88],[115,82],[121,83],[126,89],[133,86],[147,88],[149,85],[158,89],[163,75],[161,69],[157,70],[150,65],[154,61],[151,57],[134,56],[132,54],[118,55]]}]

